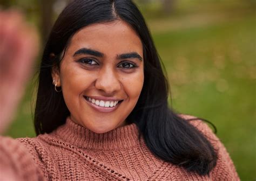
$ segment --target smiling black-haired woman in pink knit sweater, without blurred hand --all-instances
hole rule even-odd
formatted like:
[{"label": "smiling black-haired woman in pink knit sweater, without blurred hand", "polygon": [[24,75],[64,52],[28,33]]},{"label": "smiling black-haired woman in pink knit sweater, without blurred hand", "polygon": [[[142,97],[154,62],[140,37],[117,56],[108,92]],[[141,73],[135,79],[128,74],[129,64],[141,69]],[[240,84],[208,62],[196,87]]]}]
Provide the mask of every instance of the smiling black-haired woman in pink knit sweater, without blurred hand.
[{"label": "smiling black-haired woman in pink knit sweater, without blurred hand", "polygon": [[211,129],[174,113],[168,95],[131,1],[73,1],[44,49],[38,136],[2,137],[2,167],[25,180],[239,180]]}]

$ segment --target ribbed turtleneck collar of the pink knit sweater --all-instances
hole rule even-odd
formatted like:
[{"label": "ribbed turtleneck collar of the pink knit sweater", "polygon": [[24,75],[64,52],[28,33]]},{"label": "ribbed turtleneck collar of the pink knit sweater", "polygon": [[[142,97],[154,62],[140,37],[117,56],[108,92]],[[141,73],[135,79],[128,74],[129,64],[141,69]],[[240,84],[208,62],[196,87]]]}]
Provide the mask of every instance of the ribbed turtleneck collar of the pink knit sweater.
[{"label": "ribbed turtleneck collar of the pink knit sweater", "polygon": [[128,148],[139,143],[139,131],[134,123],[113,129],[107,133],[97,134],[73,122],[68,117],[66,123],[53,131],[53,134],[78,148],[92,150]]}]

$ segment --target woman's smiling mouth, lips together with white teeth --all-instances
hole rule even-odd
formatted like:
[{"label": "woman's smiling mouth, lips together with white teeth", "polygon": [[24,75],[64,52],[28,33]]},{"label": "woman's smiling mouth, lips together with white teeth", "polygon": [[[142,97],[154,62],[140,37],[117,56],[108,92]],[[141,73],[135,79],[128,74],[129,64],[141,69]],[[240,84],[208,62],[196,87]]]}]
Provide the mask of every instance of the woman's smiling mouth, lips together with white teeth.
[{"label": "woman's smiling mouth, lips together with white teeth", "polygon": [[89,96],[84,96],[85,100],[89,102],[90,106],[98,110],[99,112],[109,113],[116,110],[117,107],[123,100],[102,100],[90,98]]}]

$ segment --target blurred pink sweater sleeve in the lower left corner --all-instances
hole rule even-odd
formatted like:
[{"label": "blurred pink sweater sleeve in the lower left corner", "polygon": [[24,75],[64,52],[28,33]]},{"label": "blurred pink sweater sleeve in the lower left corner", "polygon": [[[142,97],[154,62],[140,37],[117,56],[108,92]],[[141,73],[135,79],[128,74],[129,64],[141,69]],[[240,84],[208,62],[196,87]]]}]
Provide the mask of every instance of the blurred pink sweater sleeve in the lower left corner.
[{"label": "blurred pink sweater sleeve in the lower left corner", "polygon": [[0,180],[44,180],[28,151],[10,137],[0,136]]}]

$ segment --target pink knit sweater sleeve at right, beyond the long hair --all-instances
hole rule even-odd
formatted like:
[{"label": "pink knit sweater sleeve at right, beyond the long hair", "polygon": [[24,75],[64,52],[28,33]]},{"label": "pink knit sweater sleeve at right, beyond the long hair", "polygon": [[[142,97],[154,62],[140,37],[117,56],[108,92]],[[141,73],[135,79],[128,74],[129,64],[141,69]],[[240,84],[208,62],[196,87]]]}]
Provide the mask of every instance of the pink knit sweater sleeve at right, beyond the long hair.
[{"label": "pink knit sweater sleeve at right, beyond the long hair", "polygon": [[[193,119],[194,117],[190,117],[189,119],[191,118]],[[221,143],[219,138],[213,133],[212,129],[201,120],[194,120],[190,122],[207,137],[208,141],[211,142],[214,149],[217,151],[217,164],[210,173],[212,180],[240,180],[230,155],[223,143]]]}]

